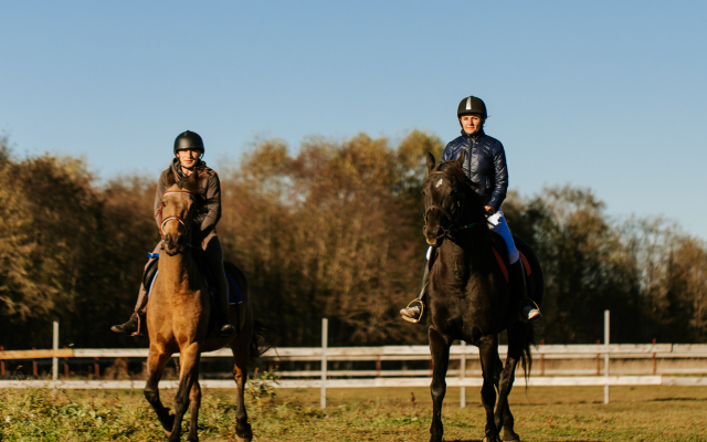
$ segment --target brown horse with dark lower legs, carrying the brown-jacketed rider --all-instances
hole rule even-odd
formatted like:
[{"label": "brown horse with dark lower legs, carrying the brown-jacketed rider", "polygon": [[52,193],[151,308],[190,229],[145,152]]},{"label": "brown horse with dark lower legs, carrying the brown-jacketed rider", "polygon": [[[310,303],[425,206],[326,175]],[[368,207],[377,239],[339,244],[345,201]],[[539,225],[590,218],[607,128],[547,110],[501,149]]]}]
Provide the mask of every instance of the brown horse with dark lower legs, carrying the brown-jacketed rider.
[{"label": "brown horse with dark lower legs, carrying the brown-jacketed rider", "polygon": [[[173,177],[171,178],[173,182]],[[211,312],[210,293],[190,251],[191,224],[197,206],[199,173],[172,183],[162,197],[162,250],[156,277],[147,304],[147,328],[150,348],[147,357],[148,380],[145,398],[157,411],[160,423],[170,441],[179,441],[181,421],[191,408],[188,441],[198,441],[197,423],[201,403],[199,386],[199,359],[202,351],[224,346],[233,351],[233,376],[238,386],[236,436],[239,441],[253,438],[247,423],[243,394],[247,366],[257,357],[249,286],[245,275],[238,271],[232,275],[243,296],[240,308],[231,308],[231,322],[236,334],[229,337],[209,335]],[[169,413],[159,398],[158,382],[169,358],[179,352],[179,388],[175,397],[175,414]]]}]

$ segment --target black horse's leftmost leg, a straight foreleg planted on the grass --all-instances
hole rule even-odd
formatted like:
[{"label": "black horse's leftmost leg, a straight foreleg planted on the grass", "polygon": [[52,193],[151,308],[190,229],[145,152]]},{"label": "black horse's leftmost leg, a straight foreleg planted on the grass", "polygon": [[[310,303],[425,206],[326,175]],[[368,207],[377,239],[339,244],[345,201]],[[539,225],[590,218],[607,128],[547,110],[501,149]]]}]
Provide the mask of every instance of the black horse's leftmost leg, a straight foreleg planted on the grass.
[{"label": "black horse's leftmost leg, a straight foreleg planted on the grass", "polygon": [[432,354],[432,425],[430,427],[430,442],[442,442],[444,427],[442,425],[442,401],[446,393],[444,377],[450,366],[450,344],[435,328],[430,327],[430,352]]}]

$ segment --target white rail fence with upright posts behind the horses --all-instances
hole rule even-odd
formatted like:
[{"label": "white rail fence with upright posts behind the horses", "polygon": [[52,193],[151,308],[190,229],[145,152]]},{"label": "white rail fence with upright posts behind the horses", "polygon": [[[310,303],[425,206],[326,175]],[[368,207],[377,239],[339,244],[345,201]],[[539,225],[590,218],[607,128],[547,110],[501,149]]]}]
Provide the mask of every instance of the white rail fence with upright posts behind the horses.
[{"label": "white rail fence with upright posts behind the horses", "polygon": [[[57,336],[57,325],[54,336]],[[277,371],[282,378],[274,383],[276,388],[320,388],[321,406],[326,406],[326,388],[373,388],[373,387],[426,387],[431,382],[431,362],[428,369],[401,370],[382,369],[387,361],[430,361],[428,346],[381,346],[381,347],[327,347],[326,319],[323,322],[321,347],[289,347],[271,349],[262,356],[265,362],[277,365],[286,361],[309,361],[318,364],[315,370]],[[605,338],[606,343],[608,339]],[[0,388],[60,388],[60,389],[141,389],[144,380],[68,380],[59,379],[59,358],[147,358],[147,348],[135,349],[59,349],[57,339],[52,350],[0,351],[0,368],[4,370],[4,360],[52,358],[51,380],[0,380]],[[507,346],[499,346],[504,358]],[[178,355],[176,355],[178,356]],[[232,357],[228,348],[205,352],[202,359]],[[482,385],[478,348],[464,343],[454,345],[450,351],[452,361],[460,361],[458,368],[447,371],[449,387]],[[528,379],[529,386],[637,386],[637,385],[680,385],[705,386],[707,377],[684,377],[666,375],[707,375],[707,345],[685,344],[598,344],[598,345],[541,345],[534,350],[535,368]],[[551,368],[553,361],[579,361],[580,368]],[[619,361],[641,360],[647,365],[648,375],[620,375],[614,365]],[[690,361],[690,367],[664,368],[658,372],[658,361]],[[337,362],[373,361],[373,370],[329,369]],[[590,368],[587,368],[589,362]],[[456,366],[456,364],[455,364]],[[610,375],[608,368],[611,368]],[[572,376],[557,376],[557,375]],[[587,376],[593,375],[593,376]],[[294,379],[297,378],[297,379]],[[204,388],[234,388],[232,380],[200,380]],[[524,377],[516,378],[516,385],[525,386]],[[165,380],[165,388],[173,388],[177,381]],[[608,401],[608,396],[605,396]]]}]

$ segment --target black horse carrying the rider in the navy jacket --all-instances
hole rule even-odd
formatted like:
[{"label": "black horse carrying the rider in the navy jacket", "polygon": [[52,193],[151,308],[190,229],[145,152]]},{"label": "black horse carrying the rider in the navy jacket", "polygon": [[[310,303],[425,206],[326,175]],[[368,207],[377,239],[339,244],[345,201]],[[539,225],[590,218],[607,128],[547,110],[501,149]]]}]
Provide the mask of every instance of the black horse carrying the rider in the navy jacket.
[{"label": "black horse carrying the rider in the navy jacket", "polygon": [[[439,248],[428,284],[430,351],[433,415],[430,441],[441,442],[444,380],[450,362],[450,346],[463,339],[479,348],[484,386],[482,402],[486,409],[484,442],[519,441],[514,431],[514,418],[508,407],[518,361],[529,376],[535,345],[532,325],[523,323],[518,314],[518,295],[494,255],[494,233],[488,229],[484,201],[462,171],[465,155],[457,160],[435,165],[428,154],[430,176],[423,187],[425,204],[424,235],[430,245]],[[445,241],[446,240],[446,241]],[[500,240],[500,238],[499,238]],[[503,240],[500,240],[503,241]],[[530,248],[515,239],[530,265],[527,291],[538,305],[542,298],[542,272]],[[432,260],[431,260],[432,262]],[[508,330],[506,366],[498,357],[498,334]],[[498,389],[498,402],[496,390]],[[496,411],[494,412],[494,406]]]}]

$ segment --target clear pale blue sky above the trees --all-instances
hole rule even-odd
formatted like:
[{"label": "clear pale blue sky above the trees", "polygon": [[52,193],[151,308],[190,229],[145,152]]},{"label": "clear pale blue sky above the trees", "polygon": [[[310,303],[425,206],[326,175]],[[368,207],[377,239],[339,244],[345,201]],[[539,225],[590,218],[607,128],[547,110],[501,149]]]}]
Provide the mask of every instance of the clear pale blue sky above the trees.
[{"label": "clear pale blue sky above the trees", "polygon": [[2,1],[0,130],[157,177],[186,129],[217,169],[258,136],[446,143],[476,95],[513,189],[589,187],[707,239],[705,22],[705,1]]}]

